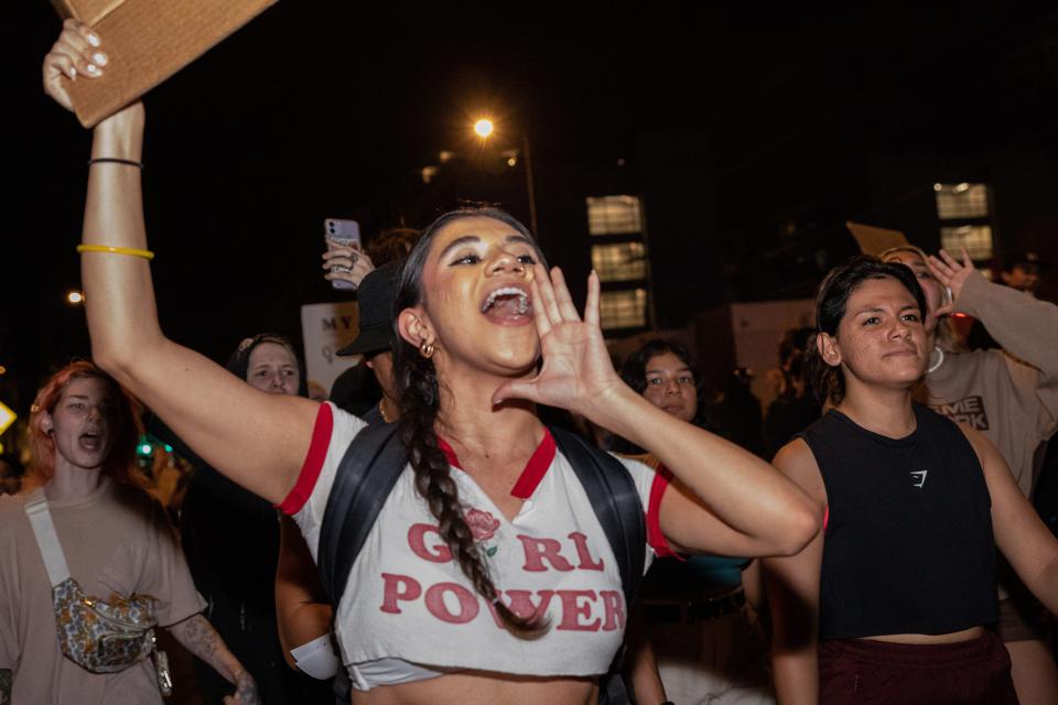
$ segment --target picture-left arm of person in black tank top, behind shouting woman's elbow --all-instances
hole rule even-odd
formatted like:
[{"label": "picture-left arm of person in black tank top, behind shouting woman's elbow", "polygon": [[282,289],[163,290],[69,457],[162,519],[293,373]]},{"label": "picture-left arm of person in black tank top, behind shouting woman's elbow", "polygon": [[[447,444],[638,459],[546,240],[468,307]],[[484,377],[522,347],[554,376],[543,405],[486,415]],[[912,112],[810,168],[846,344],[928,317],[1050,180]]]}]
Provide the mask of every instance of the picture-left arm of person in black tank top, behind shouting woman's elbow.
[{"label": "picture-left arm of person in black tank top, behind shouting woman's elbow", "polygon": [[[808,445],[787,444],[775,466],[797,482],[820,506],[827,490]],[[781,705],[814,705],[819,702],[819,576],[823,563],[820,532],[797,555],[763,561],[771,617],[771,665],[775,691]]]}]

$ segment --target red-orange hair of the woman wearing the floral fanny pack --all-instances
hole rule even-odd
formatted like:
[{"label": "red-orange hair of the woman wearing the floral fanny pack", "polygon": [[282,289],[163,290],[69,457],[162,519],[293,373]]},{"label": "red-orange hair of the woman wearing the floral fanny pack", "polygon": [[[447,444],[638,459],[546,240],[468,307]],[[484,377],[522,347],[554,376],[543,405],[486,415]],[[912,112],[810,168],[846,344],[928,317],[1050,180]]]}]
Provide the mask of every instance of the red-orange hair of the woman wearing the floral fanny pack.
[{"label": "red-orange hair of the woman wearing the floral fanny pack", "polygon": [[114,378],[87,360],[71,362],[52,375],[36,393],[30,410],[30,471],[41,485],[55,475],[55,441],[44,431],[44,414],[55,411],[66,388],[75,379],[98,379],[114,392],[115,416],[111,424],[110,453],[102,464],[102,474],[120,482],[131,481],[129,470],[136,463],[136,444],[143,432],[140,404]]}]

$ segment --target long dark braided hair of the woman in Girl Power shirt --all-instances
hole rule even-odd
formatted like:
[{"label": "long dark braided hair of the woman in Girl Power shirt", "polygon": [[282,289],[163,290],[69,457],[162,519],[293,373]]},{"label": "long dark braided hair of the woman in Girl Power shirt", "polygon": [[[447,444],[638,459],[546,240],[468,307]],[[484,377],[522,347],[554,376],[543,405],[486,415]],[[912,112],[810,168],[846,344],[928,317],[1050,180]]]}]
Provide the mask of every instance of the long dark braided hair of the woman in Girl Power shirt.
[{"label": "long dark braided hair of the woman in Girl Power shirt", "polygon": [[[401,269],[393,300],[393,380],[400,406],[397,433],[408,448],[409,463],[415,476],[415,491],[438,520],[438,531],[452,552],[452,557],[477,594],[493,605],[507,630],[517,637],[531,639],[542,634],[547,623],[537,615],[519,616],[503,603],[474,534],[463,517],[458,486],[450,474],[447,457],[441,449],[434,430],[440,410],[440,390],[433,360],[420,355],[419,349],[404,340],[397,328],[397,317],[401,311],[423,303],[422,272],[436,234],[454,220],[473,217],[505,223],[535,242],[521,223],[498,208],[453,210],[439,217],[423,231]],[[539,249],[537,254],[542,262],[543,256]]]}]

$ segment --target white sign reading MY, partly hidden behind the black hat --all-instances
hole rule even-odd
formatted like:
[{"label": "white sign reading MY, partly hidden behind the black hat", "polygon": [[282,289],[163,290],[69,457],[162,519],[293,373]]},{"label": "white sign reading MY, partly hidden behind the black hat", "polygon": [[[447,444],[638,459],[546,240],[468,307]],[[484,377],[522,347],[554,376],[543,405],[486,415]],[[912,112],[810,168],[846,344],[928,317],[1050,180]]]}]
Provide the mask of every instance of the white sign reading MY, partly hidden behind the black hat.
[{"label": "white sign reading MY, partly hidden behind the black hat", "polygon": [[305,375],[327,392],[335,378],[359,364],[363,356],[338,357],[359,333],[360,308],[355,301],[306,304],[301,307],[301,334],[305,341]]}]

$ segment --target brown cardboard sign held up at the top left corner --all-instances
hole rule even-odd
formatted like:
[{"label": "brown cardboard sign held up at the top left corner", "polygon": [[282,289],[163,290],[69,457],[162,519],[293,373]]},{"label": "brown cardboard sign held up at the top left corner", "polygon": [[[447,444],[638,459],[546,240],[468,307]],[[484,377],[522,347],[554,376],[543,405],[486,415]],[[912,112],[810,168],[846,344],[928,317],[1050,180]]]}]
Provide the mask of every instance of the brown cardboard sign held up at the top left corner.
[{"label": "brown cardboard sign held up at the top left corner", "polygon": [[97,79],[66,90],[86,128],[114,115],[219,44],[277,0],[52,0],[102,37],[109,62]]}]

